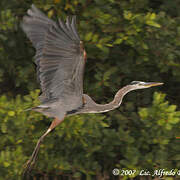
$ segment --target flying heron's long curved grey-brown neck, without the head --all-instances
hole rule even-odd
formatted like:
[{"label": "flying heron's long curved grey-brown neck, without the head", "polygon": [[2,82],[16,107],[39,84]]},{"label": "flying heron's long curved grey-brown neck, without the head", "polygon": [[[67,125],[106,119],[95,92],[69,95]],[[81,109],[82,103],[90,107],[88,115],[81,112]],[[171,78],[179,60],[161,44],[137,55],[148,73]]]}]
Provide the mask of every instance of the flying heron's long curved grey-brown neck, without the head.
[{"label": "flying heron's long curved grey-brown neck, without the head", "polygon": [[82,109],[82,113],[102,113],[113,110],[120,106],[124,95],[132,90],[134,89],[130,85],[123,87],[116,93],[113,101],[108,104],[97,104],[88,95],[86,95],[87,97],[85,98],[89,102],[87,102],[87,106],[85,105],[84,109]]}]

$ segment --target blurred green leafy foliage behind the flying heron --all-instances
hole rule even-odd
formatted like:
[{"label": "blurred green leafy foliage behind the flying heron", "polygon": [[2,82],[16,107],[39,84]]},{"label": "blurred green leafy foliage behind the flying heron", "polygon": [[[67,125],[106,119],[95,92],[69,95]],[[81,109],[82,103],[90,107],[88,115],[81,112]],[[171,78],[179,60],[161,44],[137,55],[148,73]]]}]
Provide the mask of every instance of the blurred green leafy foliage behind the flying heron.
[{"label": "blurred green leafy foliage behind the flying heron", "polygon": [[52,120],[24,111],[40,93],[35,51],[20,28],[32,3],[53,19],[77,15],[88,55],[84,92],[97,102],[133,80],[165,83],[131,92],[114,111],[66,118],[41,145],[32,177],[116,179],[117,167],[137,170],[133,178],[142,169],[180,168],[178,0],[1,0],[0,180],[21,179]]}]

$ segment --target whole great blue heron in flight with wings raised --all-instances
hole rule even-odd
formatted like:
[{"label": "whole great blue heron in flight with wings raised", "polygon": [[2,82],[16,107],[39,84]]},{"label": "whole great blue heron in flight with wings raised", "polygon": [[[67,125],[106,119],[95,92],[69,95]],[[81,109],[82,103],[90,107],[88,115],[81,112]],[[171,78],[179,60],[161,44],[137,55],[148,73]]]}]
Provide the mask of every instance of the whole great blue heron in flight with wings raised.
[{"label": "whole great blue heron in flight with wings raised", "polygon": [[54,117],[50,127],[40,137],[25,171],[31,170],[44,137],[66,116],[81,113],[108,112],[120,106],[125,94],[132,90],[159,86],[163,83],[133,81],[120,89],[112,102],[97,104],[83,94],[83,72],[86,52],[76,30],[76,17],[66,23],[49,19],[34,5],[23,18],[22,28],[36,49],[35,63],[42,94],[41,105],[32,108]]}]

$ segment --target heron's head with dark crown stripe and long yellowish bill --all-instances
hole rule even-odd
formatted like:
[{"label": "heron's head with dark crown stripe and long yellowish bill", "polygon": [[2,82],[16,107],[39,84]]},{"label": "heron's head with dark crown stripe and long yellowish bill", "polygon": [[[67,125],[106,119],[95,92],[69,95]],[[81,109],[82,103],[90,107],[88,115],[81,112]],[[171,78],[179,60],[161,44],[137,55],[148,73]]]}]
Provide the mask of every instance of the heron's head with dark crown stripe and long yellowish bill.
[{"label": "heron's head with dark crown stripe and long yellowish bill", "polygon": [[160,86],[163,85],[161,82],[142,82],[142,81],[132,81],[130,83],[130,86],[133,87],[133,89],[145,89],[150,88],[153,86]]}]

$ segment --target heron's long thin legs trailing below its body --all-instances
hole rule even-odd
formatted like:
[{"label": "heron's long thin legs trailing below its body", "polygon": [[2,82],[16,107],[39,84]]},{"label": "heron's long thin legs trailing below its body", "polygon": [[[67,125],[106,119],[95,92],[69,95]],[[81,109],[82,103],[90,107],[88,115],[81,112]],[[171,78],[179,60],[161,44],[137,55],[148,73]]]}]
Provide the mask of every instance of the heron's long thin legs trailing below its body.
[{"label": "heron's long thin legs trailing below its body", "polygon": [[53,122],[51,123],[51,125],[49,126],[48,130],[39,138],[37,144],[36,144],[36,147],[31,155],[31,158],[27,161],[27,163],[25,164],[25,169],[24,169],[24,172],[23,172],[23,176],[26,176],[26,174],[29,174],[29,172],[31,171],[35,161],[36,161],[36,158],[37,158],[37,154],[38,154],[38,151],[39,151],[39,148],[40,148],[40,145],[42,143],[42,141],[44,140],[44,138],[57,126],[59,125],[64,119],[60,120],[58,118],[55,118],[53,120]]}]

